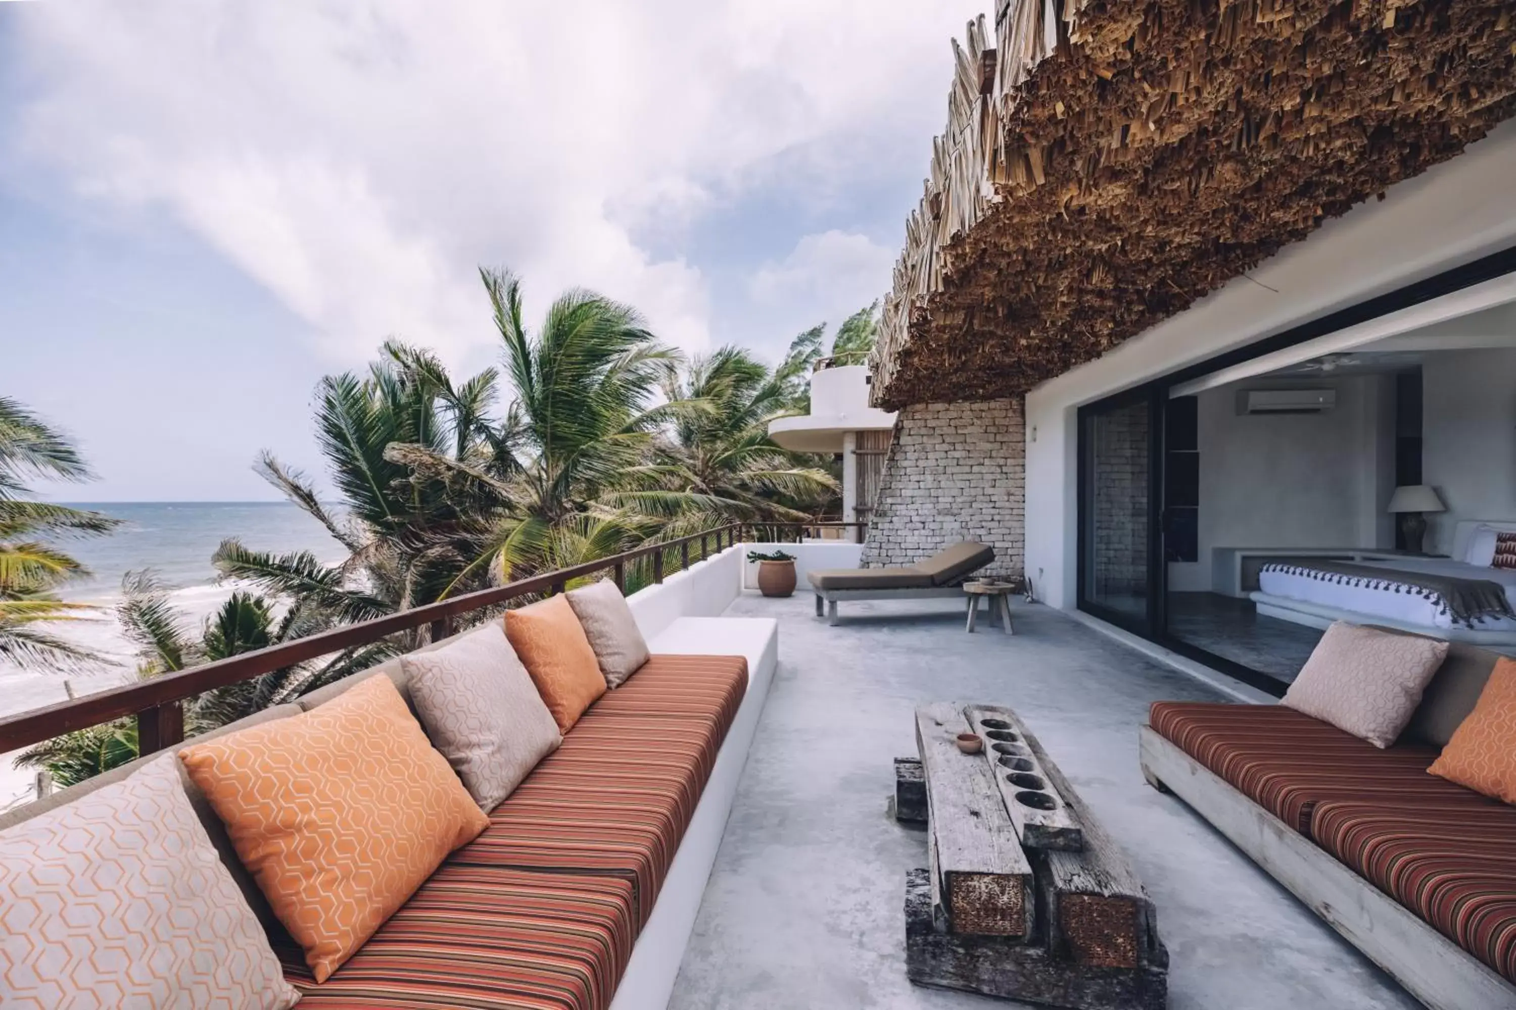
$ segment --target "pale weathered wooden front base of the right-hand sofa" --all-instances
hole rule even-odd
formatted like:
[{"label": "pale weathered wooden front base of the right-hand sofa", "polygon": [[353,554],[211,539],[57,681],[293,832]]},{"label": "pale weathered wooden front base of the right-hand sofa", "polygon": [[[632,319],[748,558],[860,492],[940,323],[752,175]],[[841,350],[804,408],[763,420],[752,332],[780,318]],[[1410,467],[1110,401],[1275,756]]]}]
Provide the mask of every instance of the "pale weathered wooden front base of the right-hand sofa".
[{"label": "pale weathered wooden front base of the right-hand sofa", "polygon": [[1142,727],[1139,750],[1149,783],[1184,800],[1431,1010],[1516,1010],[1516,987],[1501,975],[1152,727]]}]

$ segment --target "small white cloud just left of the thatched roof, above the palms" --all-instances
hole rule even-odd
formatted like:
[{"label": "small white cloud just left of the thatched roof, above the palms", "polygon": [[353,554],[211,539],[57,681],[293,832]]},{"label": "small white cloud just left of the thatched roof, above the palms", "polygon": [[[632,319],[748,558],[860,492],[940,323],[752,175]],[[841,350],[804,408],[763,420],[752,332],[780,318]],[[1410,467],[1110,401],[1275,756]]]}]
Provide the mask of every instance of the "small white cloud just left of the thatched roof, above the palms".
[{"label": "small white cloud just left of the thatched roof, above the palms", "polygon": [[752,276],[749,294],[775,313],[779,333],[835,324],[884,297],[896,254],[864,235],[807,235],[784,260],[764,263]]}]

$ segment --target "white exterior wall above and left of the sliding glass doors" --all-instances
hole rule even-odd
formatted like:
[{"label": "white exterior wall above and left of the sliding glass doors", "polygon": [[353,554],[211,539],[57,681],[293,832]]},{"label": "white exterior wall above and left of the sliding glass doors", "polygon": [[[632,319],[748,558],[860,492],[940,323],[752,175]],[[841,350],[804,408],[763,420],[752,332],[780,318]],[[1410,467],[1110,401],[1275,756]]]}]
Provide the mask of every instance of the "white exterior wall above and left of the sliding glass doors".
[{"label": "white exterior wall above and left of the sliding glass doors", "polygon": [[[1223,350],[1516,244],[1516,124],[1330,221],[1248,277],[1026,397],[1026,572],[1061,607],[1076,592],[1076,409]],[[1487,518],[1487,516],[1486,516]]]}]

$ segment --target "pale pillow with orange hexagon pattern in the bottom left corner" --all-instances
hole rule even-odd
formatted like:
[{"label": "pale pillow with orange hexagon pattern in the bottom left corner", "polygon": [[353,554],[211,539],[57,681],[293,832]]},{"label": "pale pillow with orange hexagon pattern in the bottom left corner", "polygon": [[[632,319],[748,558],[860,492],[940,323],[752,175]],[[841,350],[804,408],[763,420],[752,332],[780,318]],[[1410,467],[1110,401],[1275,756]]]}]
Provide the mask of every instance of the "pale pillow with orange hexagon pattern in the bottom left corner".
[{"label": "pale pillow with orange hexagon pattern in the bottom left corner", "polygon": [[300,995],[173,756],[0,833],[0,1002],[274,1010]]}]

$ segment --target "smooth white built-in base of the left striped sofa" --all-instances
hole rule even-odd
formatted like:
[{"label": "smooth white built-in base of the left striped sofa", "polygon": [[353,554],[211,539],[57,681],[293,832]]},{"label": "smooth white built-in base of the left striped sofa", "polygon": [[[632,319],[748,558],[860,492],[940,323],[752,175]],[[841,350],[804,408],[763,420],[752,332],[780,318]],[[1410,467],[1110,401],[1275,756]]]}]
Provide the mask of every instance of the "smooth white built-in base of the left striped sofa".
[{"label": "smooth white built-in base of the left striped sofa", "polygon": [[779,665],[779,622],[770,618],[678,618],[647,648],[664,654],[746,656],[747,692],[716,756],[711,780],[705,783],[690,828],[669,866],[653,913],[637,937],[611,1010],[666,1010],[669,1005],[726,816],[737,798],[747,750],[758,731],[758,716]]}]

